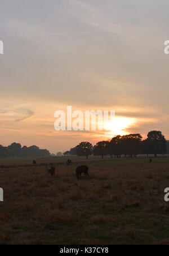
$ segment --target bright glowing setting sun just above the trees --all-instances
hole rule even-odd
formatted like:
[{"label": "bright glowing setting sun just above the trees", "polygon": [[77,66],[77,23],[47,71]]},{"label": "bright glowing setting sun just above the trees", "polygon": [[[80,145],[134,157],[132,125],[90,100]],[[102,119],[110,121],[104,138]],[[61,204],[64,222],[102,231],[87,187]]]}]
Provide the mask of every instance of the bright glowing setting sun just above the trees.
[{"label": "bright glowing setting sun just above the trees", "polygon": [[136,123],[135,118],[115,117],[113,121],[106,123],[105,136],[126,135],[127,129]]}]

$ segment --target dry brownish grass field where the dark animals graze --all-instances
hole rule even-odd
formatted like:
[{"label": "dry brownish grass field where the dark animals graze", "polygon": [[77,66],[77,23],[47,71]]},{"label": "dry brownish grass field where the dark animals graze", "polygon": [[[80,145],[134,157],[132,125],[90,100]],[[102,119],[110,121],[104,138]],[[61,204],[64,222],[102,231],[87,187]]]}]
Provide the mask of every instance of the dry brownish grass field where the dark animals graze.
[{"label": "dry brownish grass field where the dark animals graze", "polygon": [[45,160],[1,161],[0,244],[169,244],[168,158],[78,161],[56,162],[55,178]]}]

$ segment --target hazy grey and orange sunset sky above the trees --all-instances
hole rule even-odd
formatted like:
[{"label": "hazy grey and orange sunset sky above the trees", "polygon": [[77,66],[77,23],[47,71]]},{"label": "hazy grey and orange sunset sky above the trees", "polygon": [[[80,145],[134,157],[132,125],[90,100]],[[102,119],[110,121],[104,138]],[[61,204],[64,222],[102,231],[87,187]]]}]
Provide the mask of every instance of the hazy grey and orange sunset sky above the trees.
[{"label": "hazy grey and orange sunset sky above the trees", "polygon": [[0,144],[56,153],[108,139],[56,131],[68,105],[115,110],[124,133],[169,139],[168,10],[168,0],[1,1]]}]

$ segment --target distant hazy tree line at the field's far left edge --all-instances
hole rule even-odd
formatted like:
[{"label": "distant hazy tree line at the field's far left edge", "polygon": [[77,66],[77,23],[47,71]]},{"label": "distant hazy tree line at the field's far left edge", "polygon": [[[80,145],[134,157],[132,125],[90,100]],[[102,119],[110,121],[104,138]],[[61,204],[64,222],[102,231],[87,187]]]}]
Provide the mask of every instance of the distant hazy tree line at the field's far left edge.
[{"label": "distant hazy tree line at the field's far left edge", "polygon": [[8,147],[0,145],[0,157],[48,157],[48,150],[41,150],[37,146],[22,147],[19,143],[12,143]]}]

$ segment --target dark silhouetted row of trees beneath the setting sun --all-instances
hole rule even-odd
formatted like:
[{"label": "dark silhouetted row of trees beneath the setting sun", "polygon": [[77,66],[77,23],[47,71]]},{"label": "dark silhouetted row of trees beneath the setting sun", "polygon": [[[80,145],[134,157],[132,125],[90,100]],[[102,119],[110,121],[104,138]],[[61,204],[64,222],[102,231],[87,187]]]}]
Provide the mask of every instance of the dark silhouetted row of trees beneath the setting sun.
[{"label": "dark silhouetted row of trees beneath the setting sun", "polygon": [[92,146],[90,142],[81,142],[78,146],[66,151],[64,155],[88,156],[109,155],[111,158],[137,157],[139,154],[153,154],[156,158],[158,154],[167,153],[167,140],[161,131],[150,131],[147,138],[143,140],[140,134],[117,135],[110,140],[97,142]]}]

